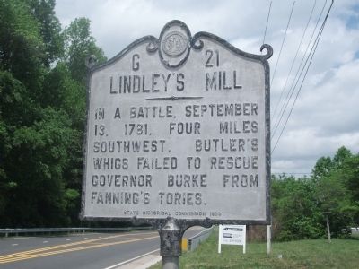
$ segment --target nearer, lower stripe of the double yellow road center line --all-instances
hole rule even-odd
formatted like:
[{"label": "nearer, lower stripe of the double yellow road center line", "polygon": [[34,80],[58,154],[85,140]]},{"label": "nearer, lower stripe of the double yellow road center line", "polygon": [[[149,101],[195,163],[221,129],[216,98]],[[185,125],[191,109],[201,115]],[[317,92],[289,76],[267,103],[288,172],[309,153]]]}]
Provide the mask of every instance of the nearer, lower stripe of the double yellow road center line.
[{"label": "nearer, lower stripe of the double yellow road center line", "polygon": [[130,240],[126,240],[126,241],[112,242],[112,243],[102,243],[102,244],[97,244],[97,245],[92,245],[92,246],[87,246],[87,247],[66,248],[66,249],[62,249],[62,250],[39,253],[39,254],[35,254],[35,255],[26,255],[25,254],[25,255],[20,255],[20,256],[10,256],[8,258],[1,259],[0,264],[17,262],[17,261],[32,259],[32,258],[41,257],[41,256],[51,256],[51,255],[57,255],[57,254],[62,254],[62,253],[67,253],[67,252],[72,252],[72,251],[78,251],[78,250],[91,249],[91,248],[96,248],[96,247],[109,247],[109,246],[114,246],[114,245],[120,245],[120,244],[126,244],[126,243],[147,240],[147,239],[156,239],[156,238],[158,238],[158,235],[156,235],[154,237],[149,237],[149,238],[130,239]]}]

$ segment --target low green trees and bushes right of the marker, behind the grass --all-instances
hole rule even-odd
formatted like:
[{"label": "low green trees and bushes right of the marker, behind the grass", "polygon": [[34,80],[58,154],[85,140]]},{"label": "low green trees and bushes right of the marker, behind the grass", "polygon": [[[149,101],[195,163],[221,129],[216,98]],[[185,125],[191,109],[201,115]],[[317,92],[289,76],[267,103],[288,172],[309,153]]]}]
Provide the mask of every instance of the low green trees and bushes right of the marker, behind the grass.
[{"label": "low green trees and bushes right of the marker, behind the grass", "polygon": [[345,147],[333,158],[321,157],[311,178],[273,177],[275,238],[315,239],[339,236],[359,223],[359,154]]}]

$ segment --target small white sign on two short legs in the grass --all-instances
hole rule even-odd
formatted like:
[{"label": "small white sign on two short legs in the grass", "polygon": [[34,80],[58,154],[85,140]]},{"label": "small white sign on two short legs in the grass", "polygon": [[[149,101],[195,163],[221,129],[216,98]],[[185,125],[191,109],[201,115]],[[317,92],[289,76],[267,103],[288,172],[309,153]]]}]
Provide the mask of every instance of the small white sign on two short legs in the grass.
[{"label": "small white sign on two short legs in the grass", "polygon": [[246,225],[219,225],[218,253],[221,245],[241,245],[246,253]]}]

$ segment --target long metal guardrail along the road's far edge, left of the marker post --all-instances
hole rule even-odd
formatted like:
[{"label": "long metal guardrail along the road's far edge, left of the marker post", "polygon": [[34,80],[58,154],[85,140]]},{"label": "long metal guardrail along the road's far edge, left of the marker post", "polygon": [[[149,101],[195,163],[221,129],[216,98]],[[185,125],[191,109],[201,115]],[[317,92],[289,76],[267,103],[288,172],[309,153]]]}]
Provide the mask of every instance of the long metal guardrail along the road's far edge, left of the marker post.
[{"label": "long metal guardrail along the road's far edge, left of the marker post", "polygon": [[0,229],[0,236],[8,237],[9,235],[18,236],[19,234],[37,234],[37,233],[75,233],[75,232],[92,232],[92,231],[129,231],[129,230],[153,230],[153,227],[127,227],[127,228],[29,228],[29,229]]}]

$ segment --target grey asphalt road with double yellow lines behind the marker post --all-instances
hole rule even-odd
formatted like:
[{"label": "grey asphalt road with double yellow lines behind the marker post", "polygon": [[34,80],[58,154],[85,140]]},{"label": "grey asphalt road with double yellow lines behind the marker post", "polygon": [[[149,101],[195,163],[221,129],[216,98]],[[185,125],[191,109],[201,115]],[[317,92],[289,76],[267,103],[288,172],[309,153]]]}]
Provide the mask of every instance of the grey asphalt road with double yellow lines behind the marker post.
[{"label": "grey asphalt road with double yellow lines behind the marker post", "polygon": [[159,247],[156,230],[0,239],[0,268],[105,269]]}]

